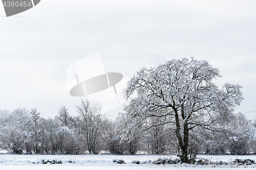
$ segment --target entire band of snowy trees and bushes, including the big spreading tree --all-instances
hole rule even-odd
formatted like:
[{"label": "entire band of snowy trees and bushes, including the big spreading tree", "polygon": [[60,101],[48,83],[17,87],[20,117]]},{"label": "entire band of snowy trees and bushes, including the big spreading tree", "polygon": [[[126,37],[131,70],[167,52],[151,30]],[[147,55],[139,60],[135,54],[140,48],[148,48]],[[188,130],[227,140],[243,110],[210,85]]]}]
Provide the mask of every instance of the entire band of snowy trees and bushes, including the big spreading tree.
[{"label": "entire band of snowy trees and bushes, including the big spreading tree", "polygon": [[[234,109],[242,86],[212,80],[219,69],[194,58],[171,60],[134,75],[123,96],[130,103],[115,120],[101,105],[81,100],[77,116],[65,106],[54,118],[35,108],[0,110],[0,148],[16,154],[255,154],[256,119]],[[133,97],[131,97],[133,96]]]}]

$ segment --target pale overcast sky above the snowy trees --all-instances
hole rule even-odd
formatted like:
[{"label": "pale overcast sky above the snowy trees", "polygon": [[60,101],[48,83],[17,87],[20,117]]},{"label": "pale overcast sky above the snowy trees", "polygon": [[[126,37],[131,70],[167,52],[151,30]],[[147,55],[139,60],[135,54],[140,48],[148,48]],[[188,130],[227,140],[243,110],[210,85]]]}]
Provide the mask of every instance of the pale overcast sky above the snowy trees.
[{"label": "pale overcast sky above the snowy trees", "polygon": [[[142,66],[207,60],[214,82],[240,84],[237,112],[256,110],[256,1],[41,0],[5,17],[0,5],[0,109],[37,108],[48,118],[65,105],[77,115],[66,68],[101,54],[107,72],[129,80]],[[113,113],[117,115],[117,113]],[[245,113],[254,119],[256,112]]]}]

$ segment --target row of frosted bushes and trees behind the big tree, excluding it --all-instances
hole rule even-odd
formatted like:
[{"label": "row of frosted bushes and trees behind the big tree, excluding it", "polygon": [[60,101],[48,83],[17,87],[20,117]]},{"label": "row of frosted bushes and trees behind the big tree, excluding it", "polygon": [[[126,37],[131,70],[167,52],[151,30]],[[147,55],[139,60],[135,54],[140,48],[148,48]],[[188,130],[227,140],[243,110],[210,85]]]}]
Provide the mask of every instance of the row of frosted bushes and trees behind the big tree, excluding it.
[{"label": "row of frosted bushes and trees behind the big tree, excluding it", "polygon": [[[35,108],[0,110],[0,148],[14,154],[177,154],[179,144],[167,124],[141,131],[135,138],[116,120],[100,114],[100,104],[88,100],[77,107],[77,116],[65,106],[54,118],[43,118]],[[256,154],[256,119],[233,114],[225,132],[198,130],[189,135],[188,155]],[[129,134],[127,135],[129,136]]]}]

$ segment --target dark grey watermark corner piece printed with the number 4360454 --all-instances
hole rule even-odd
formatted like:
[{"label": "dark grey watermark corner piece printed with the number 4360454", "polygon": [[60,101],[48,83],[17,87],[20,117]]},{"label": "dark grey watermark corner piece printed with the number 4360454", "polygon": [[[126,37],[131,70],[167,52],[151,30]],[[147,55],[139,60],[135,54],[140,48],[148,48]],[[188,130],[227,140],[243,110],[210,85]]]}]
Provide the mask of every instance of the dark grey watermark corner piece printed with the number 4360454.
[{"label": "dark grey watermark corner piece printed with the number 4360454", "polygon": [[33,8],[40,0],[2,0],[2,2],[8,17]]}]

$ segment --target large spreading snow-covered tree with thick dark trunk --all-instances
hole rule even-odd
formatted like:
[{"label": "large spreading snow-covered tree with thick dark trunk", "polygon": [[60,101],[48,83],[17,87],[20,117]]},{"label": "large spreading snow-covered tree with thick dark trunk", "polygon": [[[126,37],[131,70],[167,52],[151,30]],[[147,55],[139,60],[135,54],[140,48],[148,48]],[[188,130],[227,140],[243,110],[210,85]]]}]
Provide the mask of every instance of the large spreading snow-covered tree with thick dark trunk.
[{"label": "large spreading snow-covered tree with thick dark trunk", "polygon": [[[189,131],[196,127],[225,130],[221,123],[230,119],[243,100],[240,85],[225,83],[219,89],[212,83],[217,77],[221,77],[218,68],[193,58],[167,61],[150,69],[143,67],[123,90],[124,97],[131,96],[131,101],[120,114],[119,126],[127,130],[126,134],[136,136],[141,130],[173,125],[180,147],[178,156],[188,163]],[[158,121],[147,124],[152,117]]]}]

